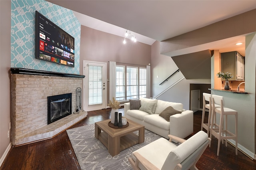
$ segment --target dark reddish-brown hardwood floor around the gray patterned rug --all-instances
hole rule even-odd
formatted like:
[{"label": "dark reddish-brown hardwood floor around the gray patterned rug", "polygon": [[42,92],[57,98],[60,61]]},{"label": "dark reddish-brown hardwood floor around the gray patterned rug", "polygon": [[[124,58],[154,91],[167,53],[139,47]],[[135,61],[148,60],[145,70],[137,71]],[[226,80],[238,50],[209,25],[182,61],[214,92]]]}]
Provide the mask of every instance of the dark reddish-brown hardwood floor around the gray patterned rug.
[{"label": "dark reddish-brown hardwood floor around the gray patterned rug", "polygon": [[[123,113],[124,109],[120,109]],[[110,109],[90,111],[86,119],[70,127],[80,127],[97,121],[110,119]],[[194,113],[194,133],[201,129],[202,112]],[[207,114],[205,120],[207,120]],[[194,134],[193,133],[193,134]],[[190,136],[188,136],[190,137]],[[251,160],[242,152],[235,154],[235,148],[228,143],[220,146],[217,156],[216,138],[212,138],[211,147],[207,147],[196,164],[199,170],[255,170],[256,160]],[[1,170],[80,170],[76,154],[66,131],[52,139],[14,147],[4,160]]]}]

